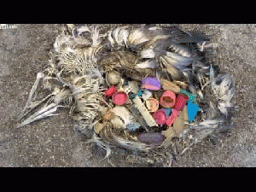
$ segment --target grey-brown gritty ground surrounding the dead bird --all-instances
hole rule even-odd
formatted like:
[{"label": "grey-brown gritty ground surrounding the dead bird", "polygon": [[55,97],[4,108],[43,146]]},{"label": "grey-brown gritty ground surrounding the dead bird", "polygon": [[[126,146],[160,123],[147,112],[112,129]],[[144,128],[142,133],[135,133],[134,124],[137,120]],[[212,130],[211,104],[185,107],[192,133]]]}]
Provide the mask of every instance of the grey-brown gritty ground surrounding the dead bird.
[{"label": "grey-brown gritty ground surrounding the dead bird", "polygon": [[[196,144],[172,166],[256,166],[256,25],[180,26],[212,35],[218,44],[219,67],[235,80],[237,108],[233,129],[219,135],[217,145]],[[66,109],[16,128],[15,120],[60,29],[58,24],[0,29],[0,166],[111,166],[102,160],[102,148],[86,145],[73,131]],[[136,156],[124,160],[119,166],[146,166]]]}]

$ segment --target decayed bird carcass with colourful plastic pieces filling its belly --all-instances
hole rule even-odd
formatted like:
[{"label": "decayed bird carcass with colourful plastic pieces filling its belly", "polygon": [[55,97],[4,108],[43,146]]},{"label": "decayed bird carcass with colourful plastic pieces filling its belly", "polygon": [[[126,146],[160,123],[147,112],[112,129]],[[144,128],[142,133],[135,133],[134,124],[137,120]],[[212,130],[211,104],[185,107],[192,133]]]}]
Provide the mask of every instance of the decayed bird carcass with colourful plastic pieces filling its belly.
[{"label": "decayed bird carcass with colourful plastic pieces filling its belly", "polygon": [[[69,24],[55,39],[18,126],[70,108],[74,130],[105,148],[106,157],[112,148],[164,159],[182,154],[230,125],[234,83],[207,58],[201,44],[208,41],[172,25]],[[52,92],[35,101],[40,79]],[[174,147],[175,138],[183,148]]]}]

